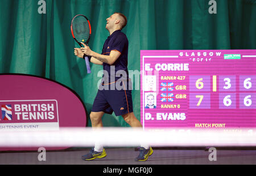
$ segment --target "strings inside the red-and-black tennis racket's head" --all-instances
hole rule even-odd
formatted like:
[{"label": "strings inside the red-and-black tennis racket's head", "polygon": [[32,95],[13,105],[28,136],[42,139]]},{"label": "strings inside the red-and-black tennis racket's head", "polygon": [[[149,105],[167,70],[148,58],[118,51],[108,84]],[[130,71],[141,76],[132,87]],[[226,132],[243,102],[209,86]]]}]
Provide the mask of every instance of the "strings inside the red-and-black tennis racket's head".
[{"label": "strings inside the red-and-black tennis racket's head", "polygon": [[87,19],[77,16],[72,23],[73,35],[79,42],[86,42],[90,37],[90,28]]}]

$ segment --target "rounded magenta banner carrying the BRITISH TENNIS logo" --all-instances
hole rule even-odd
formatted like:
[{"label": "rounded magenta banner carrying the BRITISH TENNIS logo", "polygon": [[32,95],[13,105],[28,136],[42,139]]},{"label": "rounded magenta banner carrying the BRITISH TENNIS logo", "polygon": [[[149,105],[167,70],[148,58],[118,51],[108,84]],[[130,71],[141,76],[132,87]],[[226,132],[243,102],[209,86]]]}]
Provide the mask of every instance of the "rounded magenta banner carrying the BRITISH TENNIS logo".
[{"label": "rounded magenta banner carrying the BRITISH TENNIS logo", "polygon": [[77,93],[65,85],[24,74],[0,74],[0,81],[4,83],[0,87],[0,132],[86,127],[85,105]]}]

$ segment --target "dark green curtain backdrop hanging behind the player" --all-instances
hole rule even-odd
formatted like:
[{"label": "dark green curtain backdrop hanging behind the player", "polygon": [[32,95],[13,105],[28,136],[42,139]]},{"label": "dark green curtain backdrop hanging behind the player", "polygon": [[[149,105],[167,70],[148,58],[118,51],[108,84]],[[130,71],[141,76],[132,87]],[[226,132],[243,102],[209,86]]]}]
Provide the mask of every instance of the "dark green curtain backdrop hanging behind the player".
[{"label": "dark green curtain backdrop hanging behind the player", "polygon": [[[101,52],[109,33],[106,18],[113,12],[127,16],[123,29],[129,38],[129,70],[140,69],[140,50],[256,49],[254,0],[217,0],[217,14],[209,14],[209,0],[46,0],[46,14],[38,0],[0,1],[0,73],[43,76],[72,88],[92,108],[102,66],[86,74],[83,59],[73,55],[70,32],[76,14],[92,24],[89,46]],[[5,83],[1,83],[3,86]],[[133,91],[134,114],[140,119],[140,91]],[[128,126],[122,117],[104,115],[105,126]],[[91,123],[89,121],[89,125]]]}]

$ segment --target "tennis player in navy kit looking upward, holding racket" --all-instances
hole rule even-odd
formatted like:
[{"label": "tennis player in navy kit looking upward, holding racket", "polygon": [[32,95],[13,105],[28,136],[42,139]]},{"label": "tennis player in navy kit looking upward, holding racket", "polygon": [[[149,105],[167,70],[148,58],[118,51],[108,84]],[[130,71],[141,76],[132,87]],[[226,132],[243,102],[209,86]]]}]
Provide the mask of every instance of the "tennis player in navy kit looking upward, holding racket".
[{"label": "tennis player in navy kit looking upward, holding racket", "polygon": [[[102,116],[104,113],[122,115],[125,122],[131,127],[142,127],[141,122],[133,113],[133,100],[131,97],[131,82],[128,75],[128,40],[121,30],[126,26],[125,15],[115,12],[106,19],[106,29],[109,37],[106,39],[102,53],[90,50],[85,44],[83,48],[75,48],[75,55],[82,58],[88,55],[89,61],[97,65],[103,65],[104,77],[101,88],[93,102],[90,120],[92,127],[103,127]],[[122,75],[122,76],[121,76]],[[153,153],[150,145],[143,145],[135,161],[146,161]],[[83,160],[94,160],[95,158],[106,157],[106,151],[101,144],[95,144],[90,153],[82,156]]]}]

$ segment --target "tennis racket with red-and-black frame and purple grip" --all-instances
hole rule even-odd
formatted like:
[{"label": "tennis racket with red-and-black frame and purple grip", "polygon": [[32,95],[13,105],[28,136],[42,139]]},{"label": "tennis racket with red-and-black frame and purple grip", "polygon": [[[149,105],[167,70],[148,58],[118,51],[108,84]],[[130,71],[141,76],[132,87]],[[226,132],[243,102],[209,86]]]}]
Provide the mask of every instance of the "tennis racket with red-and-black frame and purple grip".
[{"label": "tennis racket with red-and-black frame and purple grip", "polygon": [[[90,34],[92,30],[90,28],[90,22],[84,15],[76,15],[71,22],[71,33],[77,44],[82,47],[81,42],[88,45],[90,40]],[[87,73],[90,73],[90,64],[87,55],[84,54]]]}]

